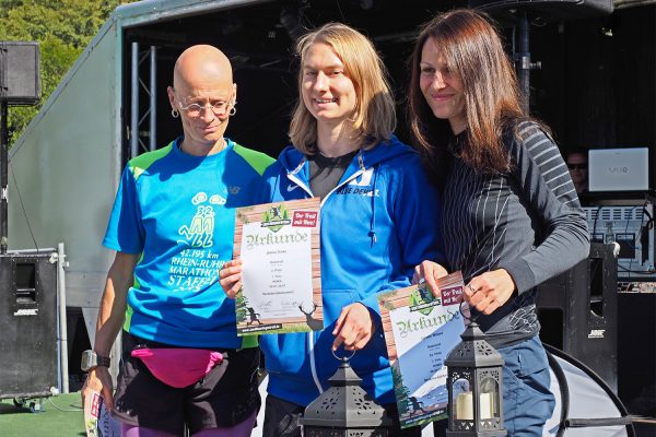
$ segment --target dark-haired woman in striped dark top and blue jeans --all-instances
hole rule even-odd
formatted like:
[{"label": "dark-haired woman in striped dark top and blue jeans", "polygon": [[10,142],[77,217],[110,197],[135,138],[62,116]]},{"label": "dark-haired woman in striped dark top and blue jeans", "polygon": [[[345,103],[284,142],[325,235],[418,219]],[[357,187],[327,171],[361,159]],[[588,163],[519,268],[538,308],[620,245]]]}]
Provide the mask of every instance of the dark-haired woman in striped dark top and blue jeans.
[{"label": "dark-haired woman in striped dark top and blue jeans", "polygon": [[[576,190],[546,127],[523,110],[512,64],[484,16],[436,16],[411,66],[411,129],[442,190],[447,267],[462,271],[465,300],[504,357],[508,435],[541,436],[554,398],[536,285],[588,255]],[[437,290],[438,269],[424,261],[415,279]]]}]

